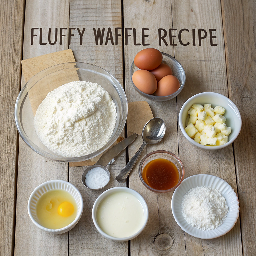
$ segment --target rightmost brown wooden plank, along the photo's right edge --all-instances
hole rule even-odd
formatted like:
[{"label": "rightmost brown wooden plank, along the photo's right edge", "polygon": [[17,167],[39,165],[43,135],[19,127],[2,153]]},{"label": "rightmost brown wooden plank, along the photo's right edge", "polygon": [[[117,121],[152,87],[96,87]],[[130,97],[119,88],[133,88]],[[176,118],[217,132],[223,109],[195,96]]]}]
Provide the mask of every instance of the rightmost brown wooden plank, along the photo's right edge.
[{"label": "rightmost brown wooden plank, along the photo's right edge", "polygon": [[256,104],[255,8],[254,1],[221,1],[226,48],[229,98],[242,117],[242,130],[234,141],[240,203],[243,255],[256,250]]}]

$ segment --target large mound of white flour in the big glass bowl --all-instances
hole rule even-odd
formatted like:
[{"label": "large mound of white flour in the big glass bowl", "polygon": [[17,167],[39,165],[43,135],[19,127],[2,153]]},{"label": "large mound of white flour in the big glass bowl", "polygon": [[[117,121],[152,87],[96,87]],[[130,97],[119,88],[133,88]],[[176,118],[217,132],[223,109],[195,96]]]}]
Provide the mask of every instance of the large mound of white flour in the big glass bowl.
[{"label": "large mound of white flour in the big glass bowl", "polygon": [[77,157],[108,142],[116,116],[115,103],[99,84],[74,81],[47,94],[36,111],[34,127],[52,152]]}]

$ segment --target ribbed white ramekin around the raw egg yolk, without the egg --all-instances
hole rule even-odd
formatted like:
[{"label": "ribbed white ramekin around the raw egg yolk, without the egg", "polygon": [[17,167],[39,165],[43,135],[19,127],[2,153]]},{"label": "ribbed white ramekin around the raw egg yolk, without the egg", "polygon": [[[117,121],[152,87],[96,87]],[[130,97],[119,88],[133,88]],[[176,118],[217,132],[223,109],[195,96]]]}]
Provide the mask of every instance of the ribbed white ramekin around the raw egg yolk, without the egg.
[{"label": "ribbed white ramekin around the raw egg yolk, without the egg", "polygon": [[[68,226],[66,226],[64,228],[49,229],[49,228],[45,228],[45,227],[41,226],[38,223],[38,218],[36,216],[36,203],[37,203],[38,199],[42,196],[42,194],[44,194],[45,192],[47,192],[48,190],[51,190],[51,189],[66,190],[74,197],[74,199],[77,202],[77,216],[73,222],[71,222]],[[38,228],[44,230],[47,233],[62,234],[62,233],[65,233],[65,232],[71,230],[74,226],[77,225],[77,222],[79,221],[79,219],[82,216],[82,212],[83,212],[83,198],[82,198],[80,192],[74,185],[72,185],[71,183],[66,182],[64,180],[49,180],[45,183],[42,183],[41,185],[39,185],[38,187],[36,187],[34,189],[34,191],[32,192],[32,194],[30,195],[30,197],[28,199],[28,215],[29,215],[30,219],[33,221],[33,223]]]}]

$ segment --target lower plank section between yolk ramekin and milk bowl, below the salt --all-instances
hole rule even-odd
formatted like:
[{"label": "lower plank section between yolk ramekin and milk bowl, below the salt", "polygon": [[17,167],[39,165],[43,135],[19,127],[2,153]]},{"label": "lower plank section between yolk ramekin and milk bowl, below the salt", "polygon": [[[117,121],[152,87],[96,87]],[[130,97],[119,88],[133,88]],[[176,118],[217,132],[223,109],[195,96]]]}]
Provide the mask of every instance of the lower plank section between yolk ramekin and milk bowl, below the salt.
[{"label": "lower plank section between yolk ramekin and milk bowl, below the salt", "polygon": [[[128,255],[128,242],[115,242],[101,236],[92,222],[92,206],[97,197],[105,190],[120,187],[116,175],[125,164],[106,166],[111,178],[109,184],[101,190],[91,190],[82,183],[82,174],[86,167],[70,167],[69,180],[78,188],[83,197],[83,214],[76,227],[69,231],[69,255]],[[122,184],[121,186],[126,186]]]}]

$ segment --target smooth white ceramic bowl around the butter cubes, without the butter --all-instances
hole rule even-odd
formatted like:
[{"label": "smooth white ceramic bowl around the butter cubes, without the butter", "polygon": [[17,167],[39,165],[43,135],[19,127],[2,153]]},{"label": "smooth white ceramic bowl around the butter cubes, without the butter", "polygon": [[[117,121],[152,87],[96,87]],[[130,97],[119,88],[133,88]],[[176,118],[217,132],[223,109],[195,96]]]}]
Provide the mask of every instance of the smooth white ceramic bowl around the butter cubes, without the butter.
[{"label": "smooth white ceramic bowl around the butter cubes, without the butter", "polygon": [[[185,127],[188,123],[189,114],[188,110],[193,104],[211,104],[213,108],[216,106],[222,106],[226,109],[224,116],[227,118],[225,124],[231,127],[232,132],[228,136],[228,142],[221,146],[204,146],[191,139],[186,131]],[[217,150],[230,145],[238,136],[242,127],[242,119],[237,106],[227,97],[216,92],[202,92],[189,98],[182,106],[179,112],[179,127],[186,139],[193,145],[205,149],[205,150]]]}]

